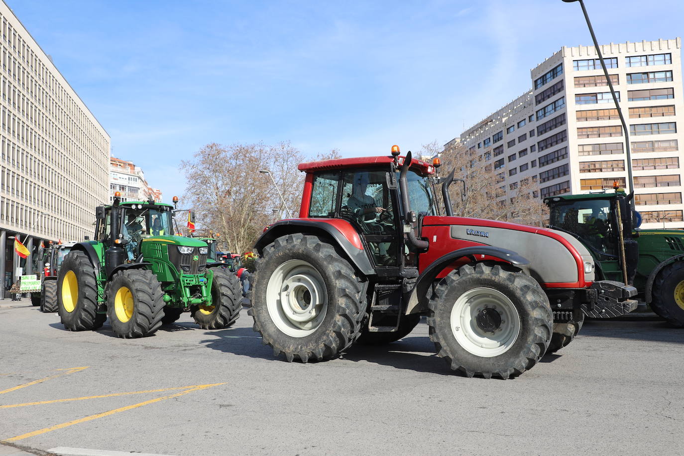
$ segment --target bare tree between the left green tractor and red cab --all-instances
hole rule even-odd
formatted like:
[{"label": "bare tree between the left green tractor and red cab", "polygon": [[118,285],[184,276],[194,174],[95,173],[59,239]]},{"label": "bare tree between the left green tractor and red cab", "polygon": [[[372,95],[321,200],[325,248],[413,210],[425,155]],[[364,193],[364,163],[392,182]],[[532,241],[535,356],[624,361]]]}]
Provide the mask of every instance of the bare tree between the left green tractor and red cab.
[{"label": "bare tree between the left green tractor and red cab", "polygon": [[[332,150],[323,158],[337,158]],[[184,206],[197,213],[198,228],[220,233],[219,242],[230,252],[251,250],[263,228],[284,214],[284,203],[298,216],[304,175],[297,170],[305,157],[289,142],[259,144],[207,144],[192,159],[181,162],[188,185]],[[179,222],[184,225],[185,219]]]}]

